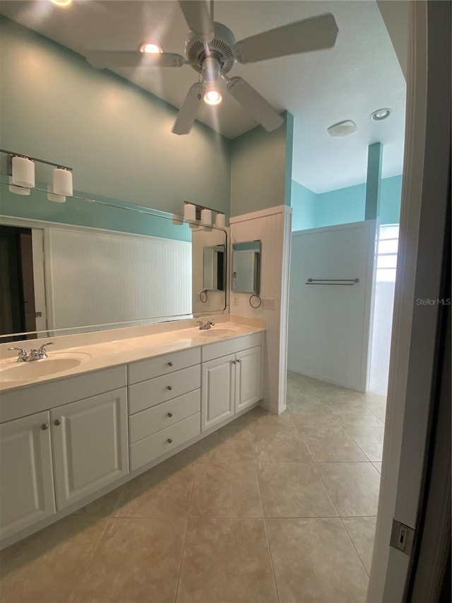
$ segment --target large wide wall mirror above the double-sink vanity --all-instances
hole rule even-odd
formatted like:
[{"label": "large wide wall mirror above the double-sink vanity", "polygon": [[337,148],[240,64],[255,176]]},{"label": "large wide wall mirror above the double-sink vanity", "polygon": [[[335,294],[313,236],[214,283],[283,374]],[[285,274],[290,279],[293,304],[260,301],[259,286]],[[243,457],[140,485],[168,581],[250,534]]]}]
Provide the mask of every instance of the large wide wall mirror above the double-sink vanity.
[{"label": "large wide wall mirror above the double-sink vanity", "polygon": [[0,213],[0,343],[225,310],[225,230],[5,183]]}]

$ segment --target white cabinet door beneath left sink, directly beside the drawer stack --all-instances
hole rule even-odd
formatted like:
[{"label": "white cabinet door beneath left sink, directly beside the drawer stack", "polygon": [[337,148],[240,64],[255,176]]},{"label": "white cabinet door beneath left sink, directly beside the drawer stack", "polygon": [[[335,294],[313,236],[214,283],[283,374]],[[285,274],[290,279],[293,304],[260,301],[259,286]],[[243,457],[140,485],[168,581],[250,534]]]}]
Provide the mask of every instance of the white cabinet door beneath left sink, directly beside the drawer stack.
[{"label": "white cabinet door beneath left sink, directly beside the drawer stack", "polygon": [[58,509],[129,473],[126,392],[124,387],[50,411]]}]

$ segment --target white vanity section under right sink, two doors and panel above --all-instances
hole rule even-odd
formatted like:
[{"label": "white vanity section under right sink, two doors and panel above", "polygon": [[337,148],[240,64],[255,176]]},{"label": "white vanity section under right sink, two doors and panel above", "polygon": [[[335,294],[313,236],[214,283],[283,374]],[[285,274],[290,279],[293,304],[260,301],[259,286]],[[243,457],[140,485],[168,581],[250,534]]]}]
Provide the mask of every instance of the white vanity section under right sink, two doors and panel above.
[{"label": "white vanity section under right sink, two doors and panel above", "polygon": [[[233,353],[225,355],[227,351]],[[208,431],[256,404],[262,397],[261,389],[260,333],[205,346],[201,431]]]}]

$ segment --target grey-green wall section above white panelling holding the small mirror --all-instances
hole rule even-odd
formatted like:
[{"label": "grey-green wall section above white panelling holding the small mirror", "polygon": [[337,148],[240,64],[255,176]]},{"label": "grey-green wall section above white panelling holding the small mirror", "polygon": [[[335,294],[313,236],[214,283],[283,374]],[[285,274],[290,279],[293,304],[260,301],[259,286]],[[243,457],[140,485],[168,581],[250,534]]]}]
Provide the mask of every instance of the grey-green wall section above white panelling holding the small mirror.
[{"label": "grey-green wall section above white panelling holding the small mirror", "polygon": [[293,117],[273,132],[261,126],[231,141],[231,216],[290,205]]}]

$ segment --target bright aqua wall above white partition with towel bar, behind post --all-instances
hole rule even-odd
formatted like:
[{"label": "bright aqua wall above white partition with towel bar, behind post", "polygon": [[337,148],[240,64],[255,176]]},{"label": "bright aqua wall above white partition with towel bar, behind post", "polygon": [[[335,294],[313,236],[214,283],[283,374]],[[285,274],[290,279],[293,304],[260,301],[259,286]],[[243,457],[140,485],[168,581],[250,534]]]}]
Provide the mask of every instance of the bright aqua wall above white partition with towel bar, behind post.
[{"label": "bright aqua wall above white partition with towel bar, behind post", "polygon": [[[402,176],[381,180],[380,223],[400,221]],[[364,220],[366,185],[346,187],[321,194],[292,182],[292,230],[321,228]]]}]

